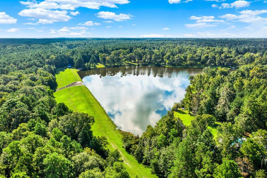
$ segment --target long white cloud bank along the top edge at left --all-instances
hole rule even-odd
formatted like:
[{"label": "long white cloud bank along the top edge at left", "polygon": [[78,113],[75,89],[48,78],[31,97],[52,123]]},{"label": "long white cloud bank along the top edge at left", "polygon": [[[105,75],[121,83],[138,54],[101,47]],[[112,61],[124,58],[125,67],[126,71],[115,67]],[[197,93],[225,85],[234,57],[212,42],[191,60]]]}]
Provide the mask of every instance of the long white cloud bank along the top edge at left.
[{"label": "long white cloud bank along the top edge at left", "polygon": [[101,6],[117,8],[116,4],[128,4],[128,0],[44,0],[41,2],[30,0],[20,1],[29,8],[75,10],[78,7],[99,9]]}]

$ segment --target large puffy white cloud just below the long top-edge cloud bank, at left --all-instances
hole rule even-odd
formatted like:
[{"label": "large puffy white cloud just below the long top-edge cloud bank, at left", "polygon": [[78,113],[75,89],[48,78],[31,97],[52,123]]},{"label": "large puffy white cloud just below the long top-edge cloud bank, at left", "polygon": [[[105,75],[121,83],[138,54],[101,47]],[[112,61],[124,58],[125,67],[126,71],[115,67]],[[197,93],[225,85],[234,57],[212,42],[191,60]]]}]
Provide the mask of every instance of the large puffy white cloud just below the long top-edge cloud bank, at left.
[{"label": "large puffy white cloud just below the long top-edge cloud bank, at left", "polygon": [[23,17],[37,18],[39,21],[37,23],[54,23],[54,22],[67,22],[72,17],[67,15],[66,10],[48,10],[48,9],[24,9],[18,13],[18,15]]}]

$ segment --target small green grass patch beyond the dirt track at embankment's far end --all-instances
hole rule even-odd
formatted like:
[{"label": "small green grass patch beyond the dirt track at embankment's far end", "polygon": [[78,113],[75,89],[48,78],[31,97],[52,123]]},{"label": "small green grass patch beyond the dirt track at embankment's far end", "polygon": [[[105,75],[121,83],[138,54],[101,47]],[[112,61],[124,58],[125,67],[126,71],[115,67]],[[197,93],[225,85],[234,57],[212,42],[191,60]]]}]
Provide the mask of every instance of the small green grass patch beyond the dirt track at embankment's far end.
[{"label": "small green grass patch beyond the dirt track at embankment's far end", "polygon": [[59,71],[58,74],[56,74],[57,88],[65,87],[72,82],[81,81],[77,71],[77,69],[65,69],[64,71]]}]

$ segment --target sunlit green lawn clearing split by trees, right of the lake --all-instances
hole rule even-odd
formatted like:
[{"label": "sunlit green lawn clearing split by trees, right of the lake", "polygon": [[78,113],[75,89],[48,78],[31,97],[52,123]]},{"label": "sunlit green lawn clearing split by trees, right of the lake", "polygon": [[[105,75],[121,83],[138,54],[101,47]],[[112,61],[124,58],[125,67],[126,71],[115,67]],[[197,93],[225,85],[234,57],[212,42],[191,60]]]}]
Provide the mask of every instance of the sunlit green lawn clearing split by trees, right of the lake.
[{"label": "sunlit green lawn clearing split by trees, right of the lake", "polygon": [[[180,117],[180,119],[183,121],[183,124],[186,126],[189,126],[191,124],[191,120],[194,119],[193,115],[190,115],[187,112],[182,111],[182,110],[180,110],[179,112],[174,112],[174,115],[175,115],[175,117]],[[215,122],[215,125],[208,126],[208,128],[210,129],[210,131],[211,131],[212,135],[214,135],[214,137],[217,136],[218,131],[216,128],[219,125],[222,125],[222,123]]]}]

